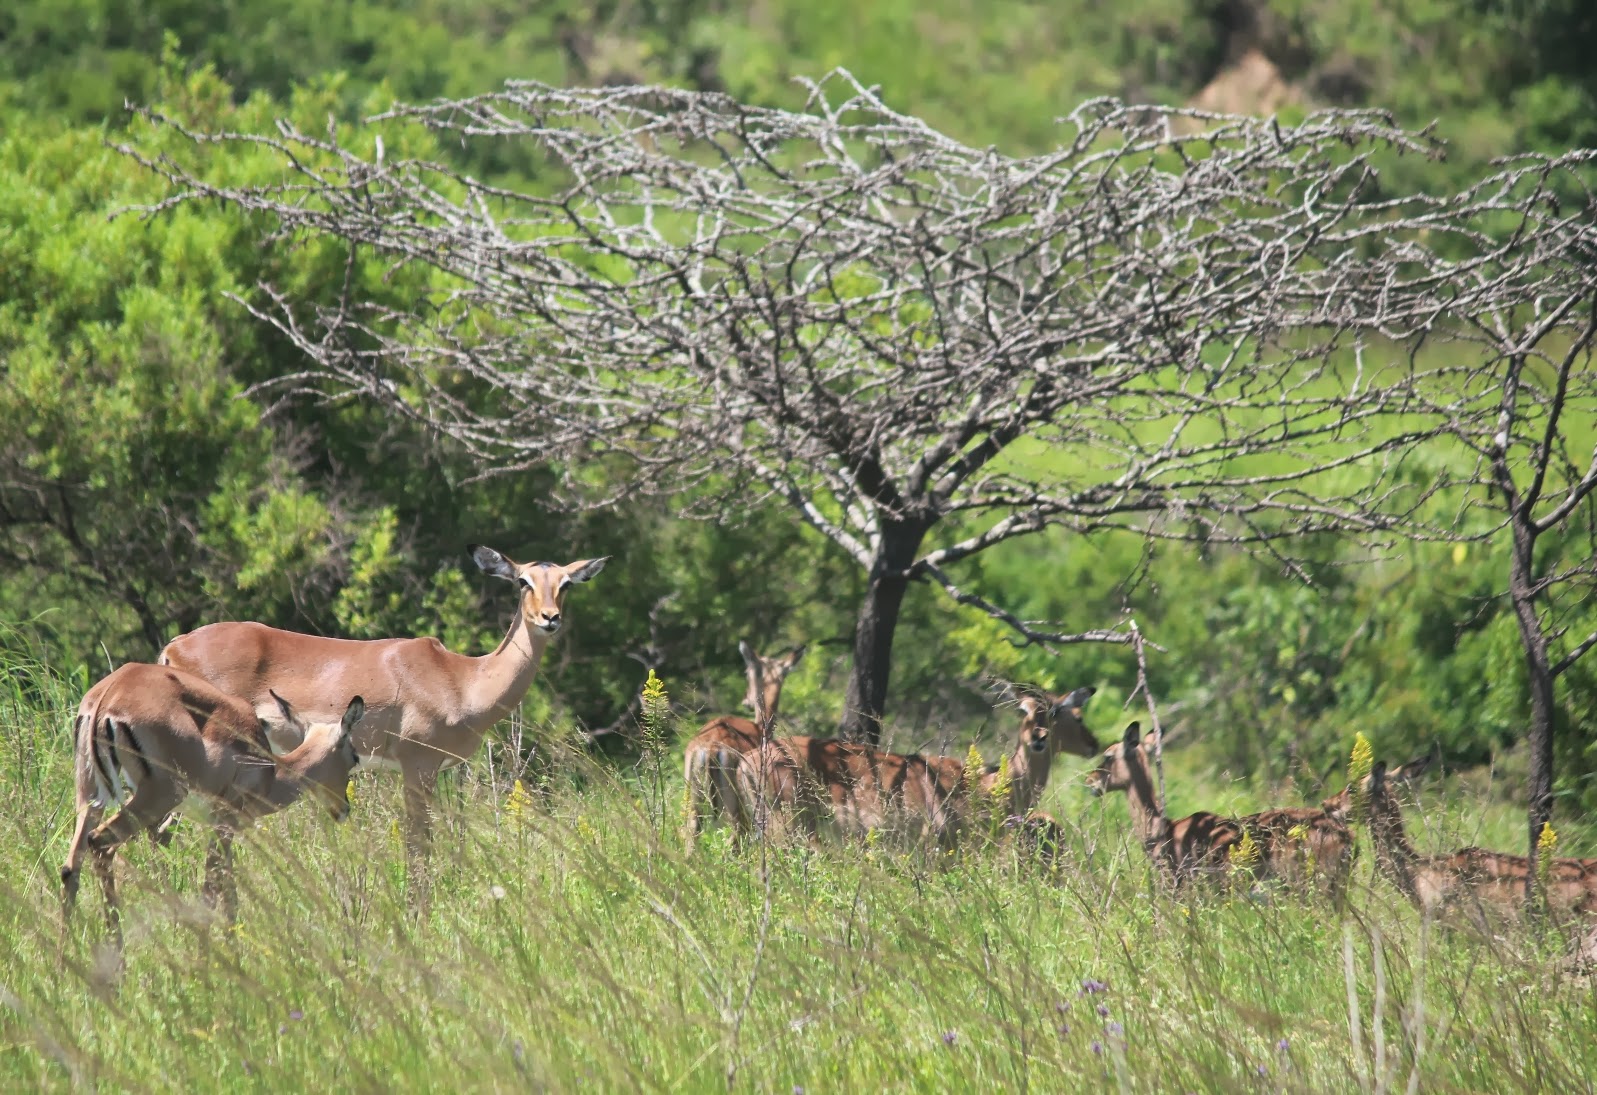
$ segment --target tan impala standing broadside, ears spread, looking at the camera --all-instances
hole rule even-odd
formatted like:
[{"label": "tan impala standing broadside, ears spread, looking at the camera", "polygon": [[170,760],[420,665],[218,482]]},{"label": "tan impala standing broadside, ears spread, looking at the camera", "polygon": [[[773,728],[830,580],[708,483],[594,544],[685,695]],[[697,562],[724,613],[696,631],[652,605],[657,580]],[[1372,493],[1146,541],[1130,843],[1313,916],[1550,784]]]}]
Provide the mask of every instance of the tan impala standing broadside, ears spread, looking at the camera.
[{"label": "tan impala standing broadside, ears spread, looking at the camera", "polygon": [[438,773],[471,757],[527,694],[564,621],[567,591],[604,570],[608,555],[564,567],[517,563],[473,544],[471,559],[521,592],[516,619],[490,654],[455,654],[436,638],[323,638],[222,623],[179,635],[161,662],[204,677],[257,712],[268,707],[273,688],[321,720],[337,718],[348,696],[366,696],[355,747],[363,760],[396,765],[404,774],[406,852],[418,865]]}]

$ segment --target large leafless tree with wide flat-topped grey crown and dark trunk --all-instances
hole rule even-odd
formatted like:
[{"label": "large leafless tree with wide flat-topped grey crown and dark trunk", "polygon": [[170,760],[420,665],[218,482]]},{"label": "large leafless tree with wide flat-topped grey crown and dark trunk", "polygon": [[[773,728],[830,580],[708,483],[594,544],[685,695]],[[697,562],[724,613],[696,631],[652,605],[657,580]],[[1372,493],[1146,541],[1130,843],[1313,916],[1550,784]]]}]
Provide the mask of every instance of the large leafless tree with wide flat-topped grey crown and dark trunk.
[{"label": "large leafless tree with wide flat-topped grey crown and dark trunk", "polygon": [[[350,137],[152,118],[271,150],[284,177],[228,187],[128,148],[174,184],[147,214],[222,200],[279,239],[436,271],[404,310],[264,286],[249,306],[307,358],[283,391],[369,394],[492,469],[564,458],[586,503],[624,496],[594,496],[618,477],[573,457],[621,460],[629,490],[699,516],[776,500],[846,552],[869,584],[842,729],[869,741],[913,581],[1027,642],[1129,642],[966,587],[961,563],[1017,536],[1445,535],[1429,514],[1452,477],[1405,472],[1452,425],[1402,417],[1433,381],[1423,353],[1533,300],[1584,231],[1584,211],[1538,204],[1540,163],[1388,196],[1380,158],[1437,142],[1378,112],[1282,126],[1094,101],[1030,158],[960,144],[848,73],[798,112],[513,83]],[[545,177],[385,160],[372,129],[412,125],[521,142]]]}]

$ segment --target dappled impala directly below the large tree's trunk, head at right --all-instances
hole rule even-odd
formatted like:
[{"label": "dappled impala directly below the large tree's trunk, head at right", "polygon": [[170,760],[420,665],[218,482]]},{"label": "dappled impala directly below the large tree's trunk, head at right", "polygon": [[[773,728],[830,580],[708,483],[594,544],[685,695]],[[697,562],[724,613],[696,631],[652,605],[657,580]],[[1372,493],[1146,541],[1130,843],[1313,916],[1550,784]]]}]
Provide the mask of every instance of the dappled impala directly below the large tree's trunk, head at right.
[{"label": "dappled impala directly below the large tree's trunk, head at right", "polygon": [[[1009,757],[1006,816],[1024,817],[1032,809],[1060,752],[1097,753],[1097,741],[1081,723],[1091,696],[1091,688],[1078,688],[1065,696],[1019,698],[1020,741]],[[989,769],[977,787],[992,793],[998,779],[1000,771]],[[829,827],[843,835],[893,830],[950,846],[969,812],[960,760],[885,753],[834,739],[765,742],[738,766],[738,789],[762,832],[779,836],[797,828],[811,841]]]}]

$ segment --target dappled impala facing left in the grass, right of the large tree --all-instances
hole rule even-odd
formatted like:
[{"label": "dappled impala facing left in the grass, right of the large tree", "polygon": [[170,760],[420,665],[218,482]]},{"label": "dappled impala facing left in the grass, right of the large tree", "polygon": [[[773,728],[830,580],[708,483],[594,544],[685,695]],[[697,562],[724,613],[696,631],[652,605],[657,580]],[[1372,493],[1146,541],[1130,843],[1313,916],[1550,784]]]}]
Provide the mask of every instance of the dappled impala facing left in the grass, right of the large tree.
[{"label": "dappled impala facing left in the grass, right of the large tree", "polygon": [[1233,849],[1242,835],[1258,852],[1254,872],[1260,878],[1324,880],[1332,900],[1340,900],[1353,867],[1353,833],[1324,809],[1266,809],[1247,817],[1222,817],[1199,811],[1180,820],[1167,819],[1153,793],[1148,755],[1153,734],[1142,736],[1132,723],[1110,745],[1102,763],[1088,773],[1088,790],[1104,795],[1126,792],[1131,825],[1153,864],[1177,886],[1204,875],[1225,875],[1234,867]]}]

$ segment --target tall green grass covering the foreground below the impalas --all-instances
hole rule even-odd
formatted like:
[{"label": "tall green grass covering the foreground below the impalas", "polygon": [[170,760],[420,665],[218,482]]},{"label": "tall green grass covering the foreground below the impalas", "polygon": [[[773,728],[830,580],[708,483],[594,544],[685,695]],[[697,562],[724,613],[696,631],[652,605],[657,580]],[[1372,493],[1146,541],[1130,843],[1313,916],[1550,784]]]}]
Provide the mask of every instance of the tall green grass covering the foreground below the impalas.
[{"label": "tall green grass covering the foreground below the impalas", "polygon": [[[1008,849],[684,856],[680,777],[508,750],[449,789],[431,908],[406,911],[398,779],[240,849],[235,929],[198,903],[200,814],[125,859],[57,940],[75,694],[0,677],[0,1090],[1589,1090],[1597,1007],[1535,940],[1425,926],[1365,848],[1345,919],[1290,895],[1156,891],[1119,798],[1062,760],[1057,876]],[[1108,741],[1110,728],[1099,728]],[[1377,747],[1380,742],[1377,742]],[[1174,752],[1172,804],[1246,809]],[[1185,761],[1185,763],[1183,763]],[[1340,781],[1335,781],[1340,785]],[[1519,846],[1488,790],[1434,782],[1429,846]],[[1335,789],[1335,787],[1333,787]],[[1442,808],[1445,803],[1445,809]],[[1410,812],[1410,827],[1420,817]],[[1594,848],[1576,825],[1562,851]]]}]

